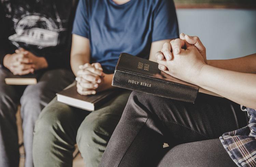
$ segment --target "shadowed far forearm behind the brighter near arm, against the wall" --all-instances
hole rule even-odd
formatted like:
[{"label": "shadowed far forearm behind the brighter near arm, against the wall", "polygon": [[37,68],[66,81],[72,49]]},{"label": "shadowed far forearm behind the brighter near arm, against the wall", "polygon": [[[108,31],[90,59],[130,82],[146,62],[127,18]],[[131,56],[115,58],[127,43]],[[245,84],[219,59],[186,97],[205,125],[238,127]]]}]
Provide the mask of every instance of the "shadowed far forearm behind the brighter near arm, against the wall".
[{"label": "shadowed far forearm behind the brighter near arm, against the wall", "polygon": [[207,60],[208,65],[231,71],[256,74],[256,53],[228,60]]}]

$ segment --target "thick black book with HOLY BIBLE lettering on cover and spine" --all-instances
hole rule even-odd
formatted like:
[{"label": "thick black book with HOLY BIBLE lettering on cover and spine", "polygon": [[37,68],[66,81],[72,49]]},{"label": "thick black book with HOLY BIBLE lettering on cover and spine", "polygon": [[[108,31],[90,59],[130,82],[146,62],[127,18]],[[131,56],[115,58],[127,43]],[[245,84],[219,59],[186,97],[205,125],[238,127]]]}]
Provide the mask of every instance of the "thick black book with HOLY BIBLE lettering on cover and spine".
[{"label": "thick black book with HOLY BIBLE lettering on cover and spine", "polygon": [[[158,63],[127,53],[120,54],[112,86],[189,103],[194,103],[199,91],[198,86],[159,70]],[[205,90],[203,93],[216,95]]]}]

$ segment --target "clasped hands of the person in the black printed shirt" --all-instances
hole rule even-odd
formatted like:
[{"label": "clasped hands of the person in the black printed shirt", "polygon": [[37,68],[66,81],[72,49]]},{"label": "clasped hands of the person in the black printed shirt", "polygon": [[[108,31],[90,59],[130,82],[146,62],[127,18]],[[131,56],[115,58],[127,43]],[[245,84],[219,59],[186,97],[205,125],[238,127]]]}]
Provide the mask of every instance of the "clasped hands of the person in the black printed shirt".
[{"label": "clasped hands of the person in the black printed shirt", "polygon": [[5,55],[3,65],[14,75],[26,75],[48,67],[44,57],[38,57],[23,48],[16,50],[13,54]]}]

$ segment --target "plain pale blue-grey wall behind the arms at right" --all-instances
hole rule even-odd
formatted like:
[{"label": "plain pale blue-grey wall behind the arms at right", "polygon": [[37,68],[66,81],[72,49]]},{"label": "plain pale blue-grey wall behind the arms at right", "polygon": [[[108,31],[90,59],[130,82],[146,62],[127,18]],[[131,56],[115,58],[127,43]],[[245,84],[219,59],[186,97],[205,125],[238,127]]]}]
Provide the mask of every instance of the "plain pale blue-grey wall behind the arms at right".
[{"label": "plain pale blue-grey wall behind the arms at right", "polygon": [[196,35],[208,59],[256,53],[256,10],[178,9],[180,33]]}]

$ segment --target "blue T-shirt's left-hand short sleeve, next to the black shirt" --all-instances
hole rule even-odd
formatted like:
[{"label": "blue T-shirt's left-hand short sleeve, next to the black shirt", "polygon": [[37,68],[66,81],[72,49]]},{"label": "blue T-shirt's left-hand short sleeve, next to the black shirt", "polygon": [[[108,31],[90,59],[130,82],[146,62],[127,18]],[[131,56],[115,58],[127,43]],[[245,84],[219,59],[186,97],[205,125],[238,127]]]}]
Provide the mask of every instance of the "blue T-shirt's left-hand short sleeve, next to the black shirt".
[{"label": "blue T-shirt's left-hand short sleeve, next to the black shirt", "polygon": [[86,5],[85,0],[79,0],[72,31],[72,34],[76,34],[85,38],[89,38],[89,22],[87,8],[88,6]]}]

